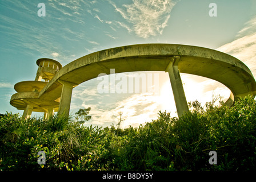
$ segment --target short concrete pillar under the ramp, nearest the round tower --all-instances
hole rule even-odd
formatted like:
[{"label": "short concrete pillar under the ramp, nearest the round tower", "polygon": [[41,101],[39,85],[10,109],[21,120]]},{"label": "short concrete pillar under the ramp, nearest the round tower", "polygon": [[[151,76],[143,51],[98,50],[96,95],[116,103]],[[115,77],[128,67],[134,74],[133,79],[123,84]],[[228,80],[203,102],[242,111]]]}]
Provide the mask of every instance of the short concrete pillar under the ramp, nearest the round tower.
[{"label": "short concrete pillar under the ramp, nearest the round tower", "polygon": [[74,83],[58,80],[62,84],[61,101],[59,102],[59,114],[69,115],[72,90]]}]

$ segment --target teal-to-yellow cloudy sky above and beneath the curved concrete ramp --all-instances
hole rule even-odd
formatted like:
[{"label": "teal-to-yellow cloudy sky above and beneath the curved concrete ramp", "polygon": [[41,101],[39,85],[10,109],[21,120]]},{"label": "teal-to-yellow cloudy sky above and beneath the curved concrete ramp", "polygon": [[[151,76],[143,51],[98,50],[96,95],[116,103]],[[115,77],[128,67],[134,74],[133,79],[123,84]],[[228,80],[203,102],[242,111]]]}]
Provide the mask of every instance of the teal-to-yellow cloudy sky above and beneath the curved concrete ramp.
[{"label": "teal-to-yellow cloudy sky above and beneath the curved concrete ramp", "polygon": [[[38,16],[39,3],[45,4],[45,16]],[[210,3],[217,5],[217,16],[209,15]],[[23,113],[9,104],[13,87],[35,79],[39,58],[65,66],[92,52],[143,43],[216,49],[243,61],[256,77],[256,1],[0,0],[0,113]],[[168,74],[141,73],[158,77],[158,92],[99,93],[101,81],[94,78],[73,89],[70,113],[91,107],[86,125],[106,127],[116,125],[122,111],[122,128],[144,125],[159,110],[177,116]],[[230,90],[217,81],[183,73],[181,78],[187,102],[203,106],[213,94],[229,98]]]}]

